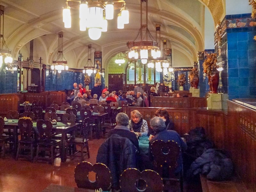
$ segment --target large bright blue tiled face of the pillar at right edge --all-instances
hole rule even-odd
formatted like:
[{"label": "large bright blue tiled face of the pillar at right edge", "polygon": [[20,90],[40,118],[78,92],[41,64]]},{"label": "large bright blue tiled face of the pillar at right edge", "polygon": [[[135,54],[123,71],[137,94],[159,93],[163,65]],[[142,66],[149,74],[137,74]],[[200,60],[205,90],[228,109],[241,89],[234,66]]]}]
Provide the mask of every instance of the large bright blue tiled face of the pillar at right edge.
[{"label": "large bright blue tiled face of the pillar at right edge", "polygon": [[256,98],[256,28],[226,31],[228,99]]}]

